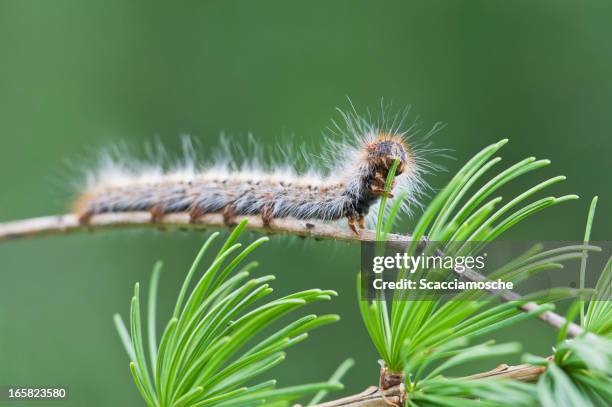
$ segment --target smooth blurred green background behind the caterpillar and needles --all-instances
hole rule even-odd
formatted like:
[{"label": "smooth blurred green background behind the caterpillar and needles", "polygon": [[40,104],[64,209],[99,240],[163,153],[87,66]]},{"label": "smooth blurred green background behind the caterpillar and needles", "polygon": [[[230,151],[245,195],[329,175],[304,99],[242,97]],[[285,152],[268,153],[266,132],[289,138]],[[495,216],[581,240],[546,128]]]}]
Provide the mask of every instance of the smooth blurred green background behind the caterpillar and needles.
[{"label": "smooth blurred green background behind the caterpillar and needles", "polygon": [[[347,96],[362,110],[384,97],[412,105],[410,119],[425,128],[447,123],[434,141],[456,160],[429,178],[435,187],[505,137],[505,165],[530,155],[553,165],[504,196],[568,176],[555,193],[582,199],[511,237],[580,239],[599,194],[593,237],[604,240],[610,21],[603,1],[0,0],[0,221],[66,211],[78,168],[110,145],[159,138],[172,152],[188,133],[210,150],[221,132],[239,143],[252,132],[271,148],[289,137],[317,146]],[[139,405],[111,316],[126,315],[133,283],[162,259],[165,318],[204,237],[142,231],[1,244],[0,384],[69,386],[70,400],[54,405]],[[278,295],[340,292],[309,311],[342,321],[290,350],[274,371],[281,384],[326,379],[348,356],[357,367],[346,392],[374,384],[376,355],[356,307],[359,248],[274,238],[254,257],[256,274],[277,275]],[[532,322],[501,336],[545,354],[554,333]]]}]

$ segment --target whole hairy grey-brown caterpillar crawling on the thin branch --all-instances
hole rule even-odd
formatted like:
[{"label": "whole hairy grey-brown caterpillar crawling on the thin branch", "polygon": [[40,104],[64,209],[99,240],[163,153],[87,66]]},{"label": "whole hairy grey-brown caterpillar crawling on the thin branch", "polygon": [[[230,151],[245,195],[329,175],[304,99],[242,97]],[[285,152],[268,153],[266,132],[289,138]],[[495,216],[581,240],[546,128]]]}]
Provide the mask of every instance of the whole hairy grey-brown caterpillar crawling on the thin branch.
[{"label": "whole hairy grey-brown caterpillar crawling on the thin branch", "polygon": [[434,150],[411,141],[416,133],[412,127],[400,130],[403,117],[395,116],[386,126],[385,120],[375,125],[354,111],[341,114],[346,126],[336,125],[340,132],[329,137],[327,170],[300,173],[287,163],[266,167],[257,159],[238,167],[226,158],[224,164],[198,165],[191,154],[174,169],[110,162],[90,177],[75,211],[83,223],[96,214],[131,211],[149,211],[153,221],[175,212],[188,212],[194,221],[204,214],[222,213],[228,224],[239,215],[259,215],[265,225],[285,217],[346,218],[358,233],[357,226],[364,228],[366,215],[375,212],[370,209],[383,195],[396,159],[399,165],[389,197],[405,192],[402,209],[409,211],[427,187],[422,175],[435,168],[425,158]]}]

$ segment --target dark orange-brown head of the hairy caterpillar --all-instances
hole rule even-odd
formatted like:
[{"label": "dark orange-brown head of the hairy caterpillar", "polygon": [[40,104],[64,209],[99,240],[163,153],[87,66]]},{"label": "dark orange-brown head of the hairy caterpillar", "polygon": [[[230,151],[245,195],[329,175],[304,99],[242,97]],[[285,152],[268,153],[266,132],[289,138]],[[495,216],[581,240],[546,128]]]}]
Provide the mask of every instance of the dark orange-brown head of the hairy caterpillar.
[{"label": "dark orange-brown head of the hairy caterpillar", "polygon": [[395,160],[400,160],[395,171],[396,175],[405,172],[410,164],[409,148],[401,136],[379,134],[366,146],[366,151],[370,168],[385,178]]}]

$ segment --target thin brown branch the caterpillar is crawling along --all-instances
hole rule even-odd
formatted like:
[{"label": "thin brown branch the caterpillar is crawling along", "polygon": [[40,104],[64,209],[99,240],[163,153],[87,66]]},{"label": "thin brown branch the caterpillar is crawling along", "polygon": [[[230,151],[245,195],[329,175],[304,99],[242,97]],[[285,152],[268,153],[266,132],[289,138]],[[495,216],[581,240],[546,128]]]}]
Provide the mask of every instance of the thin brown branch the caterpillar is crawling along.
[{"label": "thin brown branch the caterpillar is crawling along", "polygon": [[[264,225],[260,216],[245,216],[249,223],[247,229],[266,234],[285,234],[300,237],[312,237],[315,239],[332,239],[346,242],[373,242],[376,240],[376,232],[373,230],[361,230],[356,235],[351,230],[341,228],[334,224],[303,221],[297,219],[274,219],[271,225]],[[0,242],[4,240],[21,239],[26,237],[68,234],[79,231],[94,232],[105,229],[129,229],[129,228],[157,228],[157,229],[181,229],[181,230],[204,230],[208,228],[223,228],[228,225],[220,214],[204,215],[196,221],[192,221],[187,213],[173,213],[164,216],[160,221],[152,222],[149,212],[127,212],[108,213],[93,216],[87,224],[82,224],[74,214],[44,216],[13,222],[0,223]],[[410,235],[389,234],[388,241],[396,244],[409,244],[412,240]],[[438,251],[438,255],[443,255]],[[466,270],[461,273],[469,281],[485,281],[486,278],[473,271]],[[521,296],[512,291],[504,291],[499,295],[505,302],[519,301]],[[538,304],[528,302],[519,306],[524,312],[531,312],[538,308]],[[547,324],[561,329],[566,320],[561,315],[546,311],[538,318]],[[582,328],[570,323],[567,334],[576,337],[582,334]]]}]

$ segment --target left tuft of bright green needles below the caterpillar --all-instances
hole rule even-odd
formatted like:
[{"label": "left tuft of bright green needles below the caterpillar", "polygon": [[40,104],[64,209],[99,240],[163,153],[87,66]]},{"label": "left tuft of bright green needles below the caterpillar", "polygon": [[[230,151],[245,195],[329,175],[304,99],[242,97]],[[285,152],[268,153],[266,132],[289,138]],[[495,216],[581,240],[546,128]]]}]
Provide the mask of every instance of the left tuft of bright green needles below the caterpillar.
[{"label": "left tuft of bright green needles below the caterpillar", "polygon": [[[252,278],[241,263],[262,238],[245,249],[236,241],[246,221],[234,229],[212,263],[200,274],[205,253],[218,236],[213,234],[203,245],[179,292],[170,321],[159,345],[156,340],[156,299],[161,263],[151,275],[147,310],[148,351],[145,352],[141,327],[140,287],[134,288],[129,330],[115,315],[115,326],[130,358],[130,370],[143,400],[150,407],[165,406],[250,406],[288,405],[309,394],[324,397],[342,388],[341,376],[352,365],[343,363],[327,382],[277,388],[276,381],[259,384],[259,378],[285,360],[284,350],[307,338],[315,328],[337,321],[337,315],[308,315],[268,332],[270,325],[305,305],[329,300],[331,290],[312,289],[253,304],[269,296],[273,276]],[[233,257],[232,257],[233,256]],[[233,273],[238,269],[236,273]],[[262,333],[267,332],[262,338]],[[247,343],[252,343],[249,347]],[[149,356],[147,362],[146,353]]]}]

